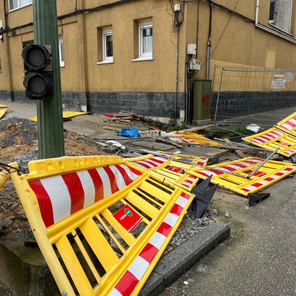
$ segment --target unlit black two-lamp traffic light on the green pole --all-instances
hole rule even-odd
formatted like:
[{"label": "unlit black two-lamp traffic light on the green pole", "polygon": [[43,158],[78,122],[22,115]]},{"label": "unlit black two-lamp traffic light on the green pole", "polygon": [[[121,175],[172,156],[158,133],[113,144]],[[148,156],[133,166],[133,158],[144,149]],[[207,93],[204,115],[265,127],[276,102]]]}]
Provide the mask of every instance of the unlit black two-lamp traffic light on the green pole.
[{"label": "unlit black two-lamp traffic light on the green pole", "polygon": [[53,46],[23,44],[24,87],[30,99],[53,99]]}]

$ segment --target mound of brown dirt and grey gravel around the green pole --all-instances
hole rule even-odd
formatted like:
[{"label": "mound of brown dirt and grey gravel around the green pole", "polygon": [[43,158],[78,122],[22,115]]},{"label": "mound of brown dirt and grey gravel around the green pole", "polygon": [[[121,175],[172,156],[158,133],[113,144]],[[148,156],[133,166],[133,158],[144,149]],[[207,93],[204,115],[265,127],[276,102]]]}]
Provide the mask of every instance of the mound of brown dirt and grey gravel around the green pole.
[{"label": "mound of brown dirt and grey gravel around the green pole", "polygon": [[[37,137],[37,123],[33,120],[16,117],[0,120],[0,162],[16,161],[22,172],[28,173],[28,162],[38,159]],[[65,155],[108,155],[95,141],[75,132],[64,132],[64,139]],[[0,237],[28,225],[14,186],[8,180],[0,192]]]}]

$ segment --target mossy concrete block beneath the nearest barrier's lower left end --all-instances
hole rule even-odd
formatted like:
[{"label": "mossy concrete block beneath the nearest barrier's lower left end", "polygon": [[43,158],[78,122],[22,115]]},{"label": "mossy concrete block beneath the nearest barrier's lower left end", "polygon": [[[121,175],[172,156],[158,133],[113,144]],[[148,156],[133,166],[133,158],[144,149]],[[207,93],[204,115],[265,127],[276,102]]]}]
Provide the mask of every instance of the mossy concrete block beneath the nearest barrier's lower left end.
[{"label": "mossy concrete block beneath the nearest barrier's lower left end", "polygon": [[[0,240],[0,286],[9,291],[12,296],[60,296],[59,289],[40,249],[37,247],[24,247],[24,237],[25,231],[21,231]],[[76,244],[72,243],[72,247],[89,281],[93,284],[95,282],[94,276],[82,259]],[[89,252],[90,247],[85,243],[84,247],[91,254]],[[57,250],[56,253],[63,269],[66,270]],[[94,255],[91,255],[91,260],[102,275],[104,271]],[[69,278],[67,271],[66,275]]]}]

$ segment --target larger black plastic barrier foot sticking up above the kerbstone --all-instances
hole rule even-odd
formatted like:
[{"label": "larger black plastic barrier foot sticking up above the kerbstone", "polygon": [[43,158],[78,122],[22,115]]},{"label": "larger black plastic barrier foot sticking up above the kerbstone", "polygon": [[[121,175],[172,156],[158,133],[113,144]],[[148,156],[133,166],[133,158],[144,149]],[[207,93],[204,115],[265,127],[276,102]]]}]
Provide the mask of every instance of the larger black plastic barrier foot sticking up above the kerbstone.
[{"label": "larger black plastic barrier foot sticking up above the kerbstone", "polygon": [[191,190],[191,193],[195,194],[195,198],[193,199],[193,211],[196,212],[196,219],[200,218],[205,212],[218,187],[218,184],[216,184],[208,189],[211,178],[212,176],[208,177]]}]

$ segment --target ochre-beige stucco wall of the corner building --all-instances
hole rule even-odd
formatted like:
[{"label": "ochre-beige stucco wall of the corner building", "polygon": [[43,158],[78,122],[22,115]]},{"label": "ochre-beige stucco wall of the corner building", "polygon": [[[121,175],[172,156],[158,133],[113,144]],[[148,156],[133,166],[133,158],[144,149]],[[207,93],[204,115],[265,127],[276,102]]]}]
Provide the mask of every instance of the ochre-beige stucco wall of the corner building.
[{"label": "ochre-beige stucco wall of the corner building", "polygon": [[[100,1],[100,5],[112,0]],[[175,1],[177,3],[177,1]],[[215,0],[233,9],[237,0]],[[293,1],[291,31],[295,31],[295,7]],[[77,9],[92,8],[96,0],[78,0]],[[269,24],[270,0],[260,0],[259,23]],[[4,26],[8,0],[0,3],[0,20]],[[74,10],[75,0],[57,0],[58,16]],[[171,33],[172,11],[167,10],[168,0],[135,0],[120,5],[82,14],[58,21],[59,35],[63,37],[65,67],[61,67],[63,92],[146,92],[174,93],[176,90],[176,42],[177,34]],[[256,0],[239,1],[236,11],[255,20]],[[187,43],[197,42],[197,58],[201,65],[206,61],[209,30],[209,3],[205,0],[187,2],[184,21],[180,25],[178,93],[185,93],[185,62]],[[199,17],[198,17],[199,16]],[[18,27],[33,21],[32,5],[8,12],[7,26]],[[226,30],[212,53],[211,78],[215,64],[246,65],[258,67],[296,68],[296,44],[257,28],[251,21],[217,6],[212,7],[211,43],[214,50],[229,18]],[[153,19],[153,60],[135,61],[138,38],[135,22]],[[197,25],[198,21],[198,25]],[[110,64],[97,64],[100,56],[98,28],[113,28],[113,60]],[[197,35],[198,27],[198,35]],[[278,30],[280,31],[280,30]],[[286,34],[285,32],[282,32]],[[0,42],[0,91],[24,91],[22,42],[33,40],[33,26],[4,33]],[[197,41],[198,40],[198,41]],[[205,78],[204,65],[194,78]],[[154,105],[152,105],[152,108]],[[180,105],[181,106],[181,105]],[[156,106],[157,107],[157,106]],[[167,107],[167,106],[165,106]],[[181,108],[181,107],[180,107]]]}]

